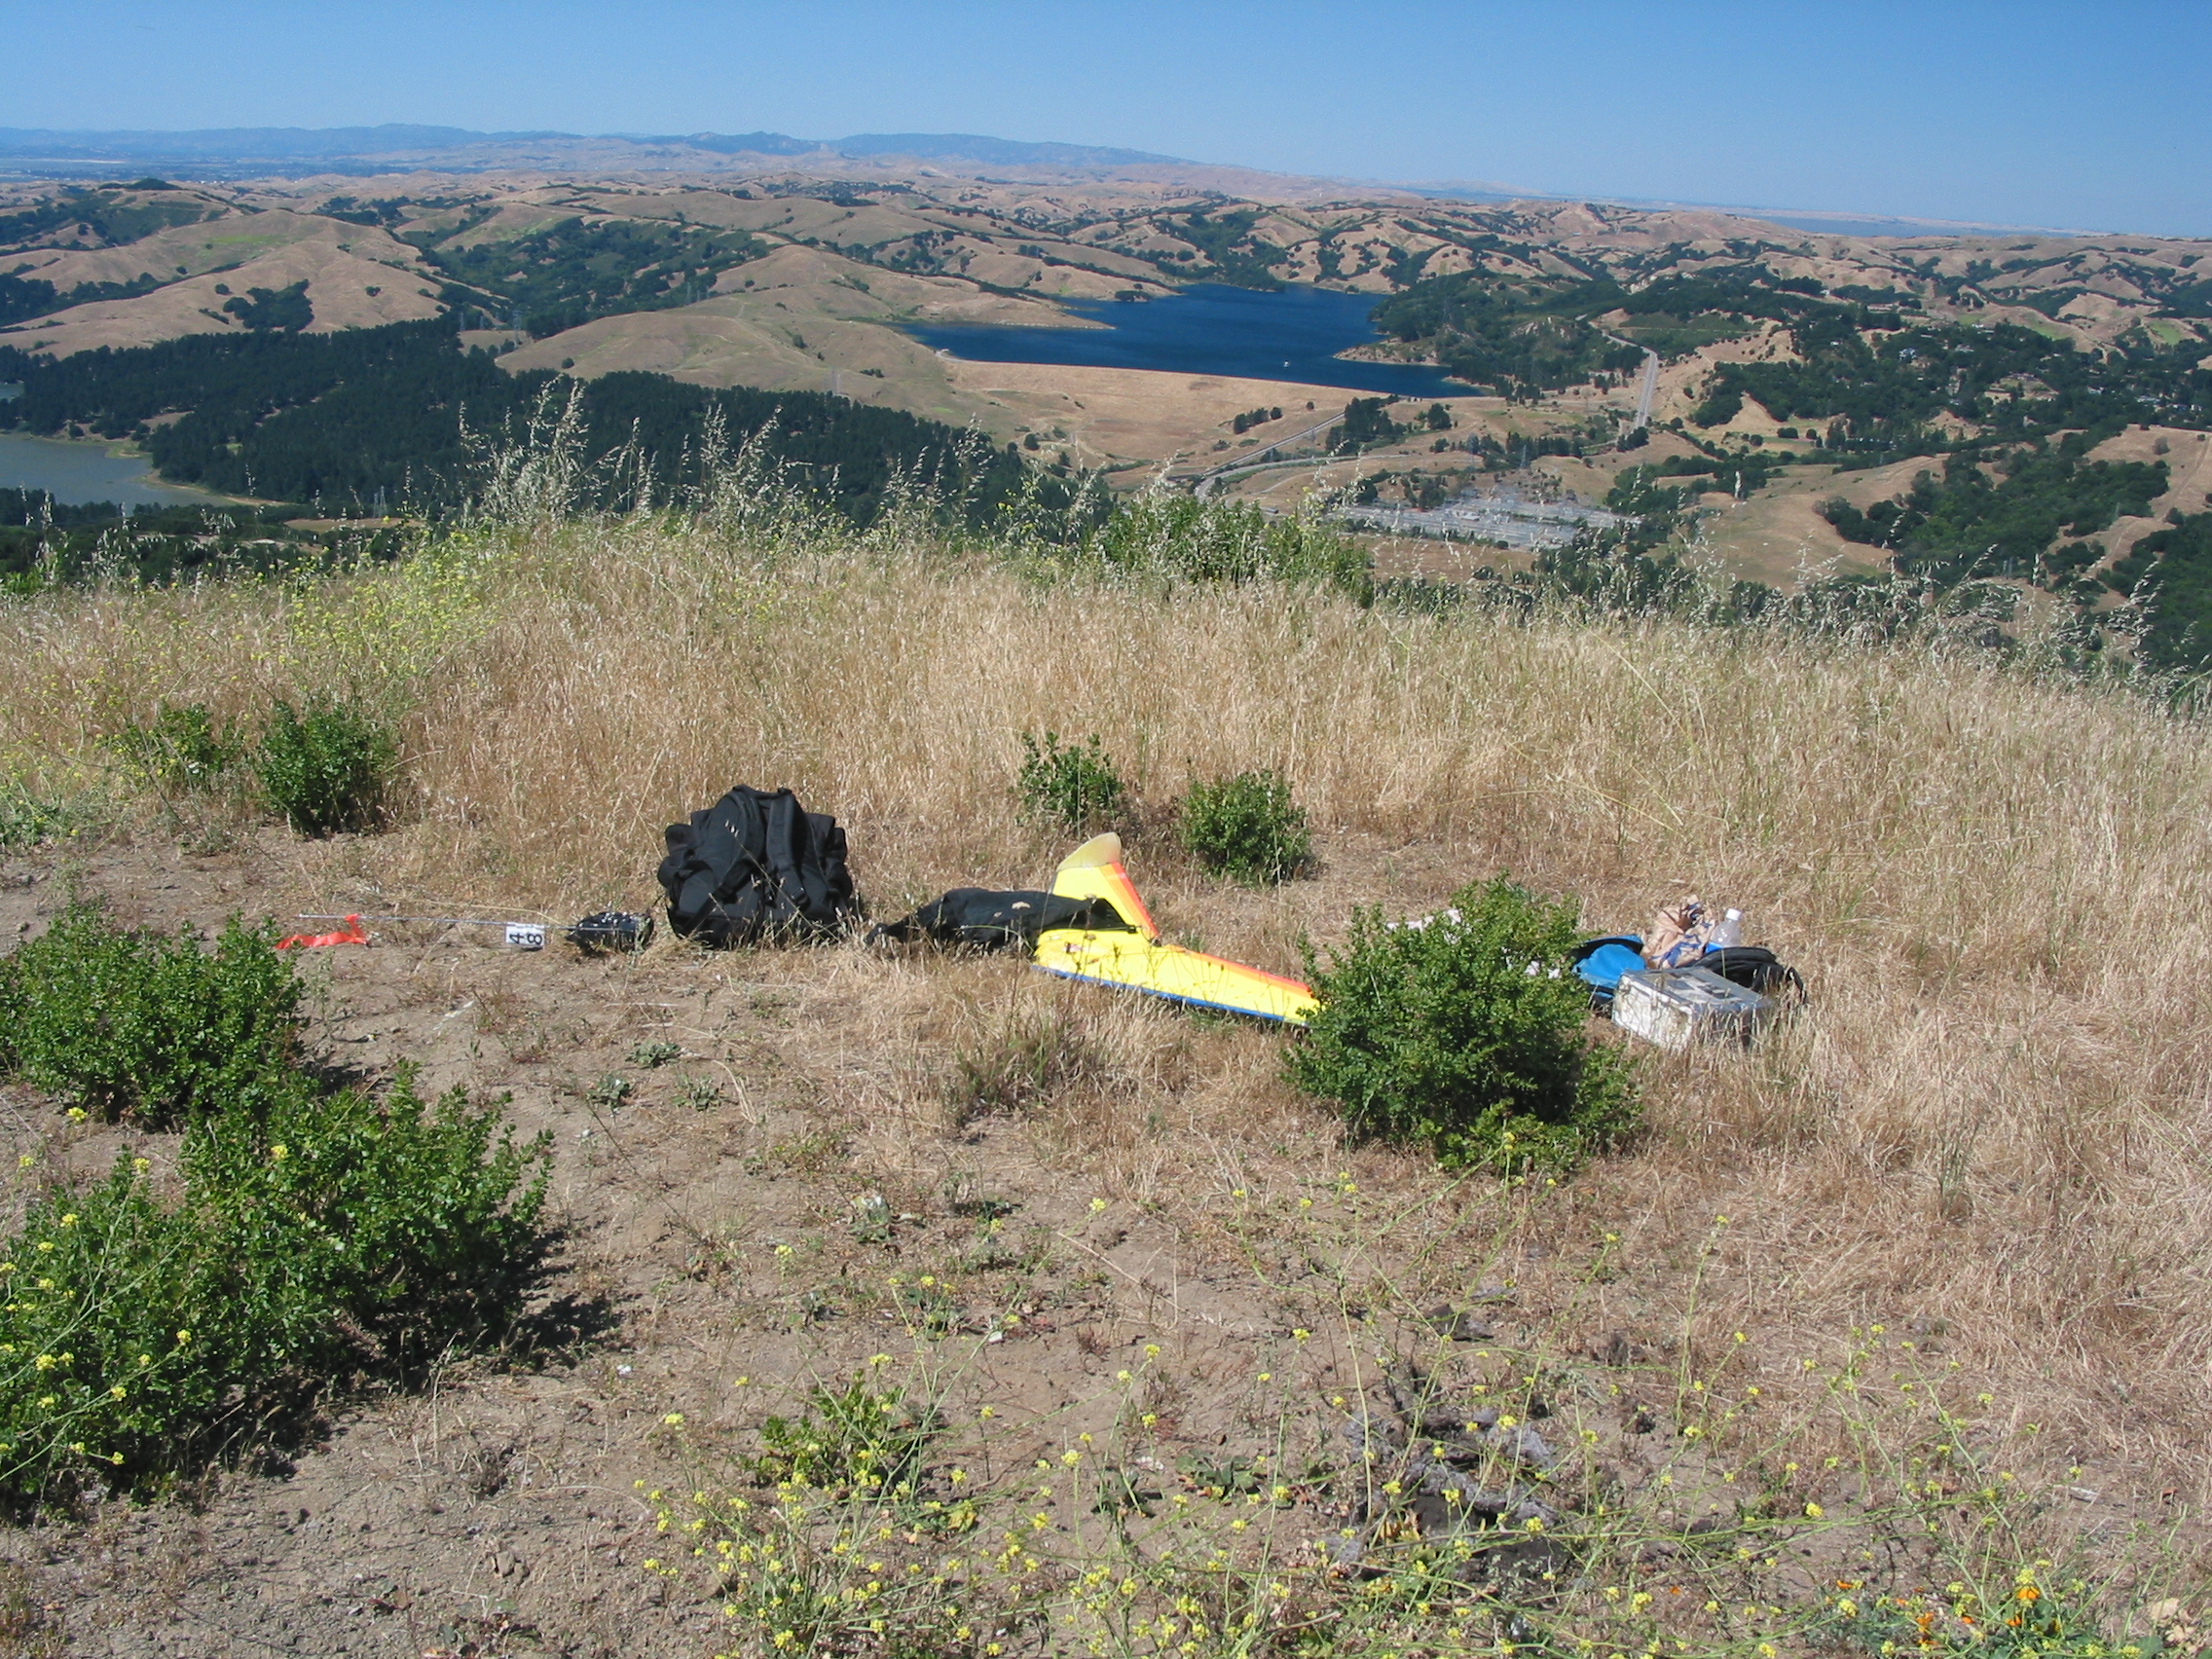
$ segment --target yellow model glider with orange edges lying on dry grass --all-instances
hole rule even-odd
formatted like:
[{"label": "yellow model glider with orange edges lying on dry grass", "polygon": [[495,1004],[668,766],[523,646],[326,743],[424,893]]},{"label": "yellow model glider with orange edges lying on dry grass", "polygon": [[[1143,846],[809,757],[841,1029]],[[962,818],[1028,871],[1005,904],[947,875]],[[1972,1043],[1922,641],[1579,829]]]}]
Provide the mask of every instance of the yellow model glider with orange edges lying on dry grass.
[{"label": "yellow model glider with orange edges lying on dry grass", "polygon": [[1086,841],[1068,854],[1053,874],[1053,894],[1104,898],[1137,931],[1055,927],[1040,933],[1037,967],[1046,973],[1285,1024],[1305,1024],[1316,1006],[1312,991],[1281,973],[1161,945],[1152,914],[1121,867],[1121,838],[1115,834]]}]

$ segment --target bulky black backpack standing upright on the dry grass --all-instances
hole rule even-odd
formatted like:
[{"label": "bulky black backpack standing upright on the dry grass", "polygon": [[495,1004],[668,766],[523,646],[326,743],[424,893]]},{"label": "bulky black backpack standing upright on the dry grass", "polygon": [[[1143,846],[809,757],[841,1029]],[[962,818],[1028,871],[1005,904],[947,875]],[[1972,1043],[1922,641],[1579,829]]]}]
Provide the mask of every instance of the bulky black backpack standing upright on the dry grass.
[{"label": "bulky black backpack standing upright on the dry grass", "polygon": [[730,790],[668,825],[659,867],[668,927],[726,951],[754,940],[827,938],[860,914],[845,832],[790,790]]}]

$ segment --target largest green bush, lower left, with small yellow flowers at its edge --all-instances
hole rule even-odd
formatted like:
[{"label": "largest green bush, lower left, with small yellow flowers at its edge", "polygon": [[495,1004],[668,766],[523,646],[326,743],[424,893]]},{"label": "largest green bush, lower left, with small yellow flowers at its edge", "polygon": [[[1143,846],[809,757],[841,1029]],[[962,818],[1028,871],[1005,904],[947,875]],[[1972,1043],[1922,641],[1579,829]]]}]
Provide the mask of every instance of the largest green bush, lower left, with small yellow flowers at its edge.
[{"label": "largest green bush, lower left, with small yellow flowers at its edge", "polygon": [[131,1159],[51,1188],[0,1243],[0,1498],[157,1486],[338,1378],[498,1340],[546,1254],[544,1161],[460,1093],[294,1075],[186,1133],[181,1203]]}]

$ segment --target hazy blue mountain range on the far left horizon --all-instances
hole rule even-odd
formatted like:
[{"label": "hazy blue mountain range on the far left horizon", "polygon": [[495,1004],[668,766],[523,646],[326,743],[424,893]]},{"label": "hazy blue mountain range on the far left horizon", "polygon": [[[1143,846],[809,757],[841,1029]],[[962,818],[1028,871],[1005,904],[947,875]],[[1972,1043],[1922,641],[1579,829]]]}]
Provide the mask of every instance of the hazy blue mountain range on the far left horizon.
[{"label": "hazy blue mountain range on the far left horizon", "polygon": [[982,166],[1099,168],[1188,166],[1172,155],[1086,144],[1026,144],[980,133],[856,133],[803,139],[790,133],[476,133],[465,126],[210,126],[190,133],[58,131],[0,126],[0,173],[15,177],[115,177],[164,166],[195,177],[398,173],[420,166],[476,173],[553,161],[575,166],[684,168],[717,157],[911,157]]}]

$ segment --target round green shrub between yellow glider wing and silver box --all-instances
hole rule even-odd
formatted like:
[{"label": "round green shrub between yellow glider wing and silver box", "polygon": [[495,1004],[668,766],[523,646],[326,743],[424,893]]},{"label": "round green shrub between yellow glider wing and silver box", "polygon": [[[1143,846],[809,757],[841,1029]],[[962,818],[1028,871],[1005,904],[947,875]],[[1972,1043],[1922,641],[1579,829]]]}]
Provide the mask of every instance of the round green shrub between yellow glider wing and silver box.
[{"label": "round green shrub between yellow glider wing and silver box", "polygon": [[1444,1164],[1568,1168],[1637,1119],[1628,1057],[1586,1035],[1588,989],[1564,967],[1575,907],[1504,876],[1425,922],[1354,911],[1290,1053],[1301,1088],[1354,1135],[1422,1141]]}]

